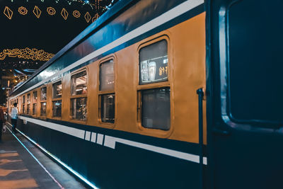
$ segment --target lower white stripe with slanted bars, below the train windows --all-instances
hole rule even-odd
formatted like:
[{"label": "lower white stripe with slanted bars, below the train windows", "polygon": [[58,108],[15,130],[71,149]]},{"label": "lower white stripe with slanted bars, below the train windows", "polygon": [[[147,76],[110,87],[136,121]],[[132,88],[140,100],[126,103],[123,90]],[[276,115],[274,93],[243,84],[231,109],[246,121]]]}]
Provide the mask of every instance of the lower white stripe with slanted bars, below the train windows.
[{"label": "lower white stripe with slanted bars, below the train windows", "polygon": [[[131,146],[131,147],[146,149],[146,150],[149,150],[149,151],[154,151],[154,152],[159,153],[159,154],[164,154],[164,155],[167,155],[167,156],[173,156],[175,158],[184,159],[184,160],[187,160],[187,161],[192,161],[192,162],[195,162],[197,164],[200,164],[200,156],[195,155],[195,154],[189,154],[189,153],[185,153],[185,152],[182,152],[182,151],[176,151],[176,150],[173,150],[173,149],[156,147],[154,145],[144,144],[144,143],[141,143],[141,142],[134,142],[134,141],[131,141],[131,140],[121,139],[121,138],[118,138],[118,137],[111,137],[111,136],[96,133],[96,132],[79,130],[79,129],[76,129],[76,128],[73,128],[73,127],[68,127],[66,125],[59,125],[59,124],[56,124],[56,123],[53,123],[53,122],[45,122],[45,121],[42,121],[42,120],[27,118],[27,117],[24,117],[24,116],[19,116],[18,118],[21,119],[21,120],[24,120],[24,122],[33,122],[36,125],[40,125],[42,127],[47,127],[47,128],[52,129],[52,130],[57,130],[59,132],[69,134],[71,136],[78,137],[80,139],[85,139],[87,141],[91,141],[93,143],[100,144],[104,147],[109,147],[109,148],[115,149],[115,144],[116,144],[116,142],[118,142],[118,143],[121,143],[121,144],[126,144],[126,145]],[[104,138],[104,144],[103,144],[103,138]],[[207,165],[207,157],[203,158],[203,164]]]}]

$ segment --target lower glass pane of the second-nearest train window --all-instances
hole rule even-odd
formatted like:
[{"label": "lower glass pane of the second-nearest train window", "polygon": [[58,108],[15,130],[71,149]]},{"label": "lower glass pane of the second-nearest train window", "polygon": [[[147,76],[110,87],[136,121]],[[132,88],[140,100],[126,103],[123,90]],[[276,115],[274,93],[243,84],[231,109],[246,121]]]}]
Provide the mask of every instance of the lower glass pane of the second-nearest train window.
[{"label": "lower glass pane of the second-nearest train window", "polygon": [[101,95],[101,121],[115,122],[115,94]]}]

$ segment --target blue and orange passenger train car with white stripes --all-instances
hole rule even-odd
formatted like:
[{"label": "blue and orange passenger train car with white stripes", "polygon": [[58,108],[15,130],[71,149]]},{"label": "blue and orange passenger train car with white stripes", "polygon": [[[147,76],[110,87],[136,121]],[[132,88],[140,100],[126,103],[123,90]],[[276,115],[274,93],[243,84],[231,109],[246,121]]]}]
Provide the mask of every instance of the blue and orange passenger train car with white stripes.
[{"label": "blue and orange passenger train car with white stripes", "polygon": [[8,109],[92,188],[283,188],[282,7],[121,0]]}]

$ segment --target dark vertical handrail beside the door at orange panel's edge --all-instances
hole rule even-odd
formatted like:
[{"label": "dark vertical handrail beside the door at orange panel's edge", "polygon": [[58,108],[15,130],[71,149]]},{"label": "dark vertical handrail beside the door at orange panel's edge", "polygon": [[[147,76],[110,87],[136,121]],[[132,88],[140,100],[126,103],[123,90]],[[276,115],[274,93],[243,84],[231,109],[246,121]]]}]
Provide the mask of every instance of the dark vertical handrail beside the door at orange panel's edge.
[{"label": "dark vertical handrail beside the door at orange panel's edge", "polygon": [[200,144],[200,189],[203,189],[203,115],[202,115],[202,100],[204,92],[202,88],[197,89],[199,96],[199,144]]}]

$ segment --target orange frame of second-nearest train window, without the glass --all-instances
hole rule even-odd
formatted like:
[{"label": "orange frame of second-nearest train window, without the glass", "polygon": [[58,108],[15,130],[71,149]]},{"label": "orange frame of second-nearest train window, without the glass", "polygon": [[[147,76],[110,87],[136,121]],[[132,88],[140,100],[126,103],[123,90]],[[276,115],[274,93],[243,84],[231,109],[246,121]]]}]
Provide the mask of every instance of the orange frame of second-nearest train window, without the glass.
[{"label": "orange frame of second-nearest train window, without the glass", "polygon": [[[113,62],[113,73],[114,73],[114,88],[113,90],[105,90],[105,91],[101,91],[100,90],[100,65],[103,64],[103,63],[106,63],[108,61],[110,61],[112,59],[112,62]],[[117,88],[117,57],[112,54],[112,55],[108,55],[107,57],[101,59],[99,62],[98,62],[98,78],[97,78],[97,81],[98,81],[98,96],[96,99],[98,99],[98,125],[101,126],[101,127],[107,127],[107,128],[114,128],[116,126],[116,120],[117,120],[117,93],[116,93],[116,88]],[[113,94],[115,96],[115,116],[114,116],[114,122],[103,122],[102,119],[101,119],[101,97],[103,95],[110,95],[110,94]]]}]

